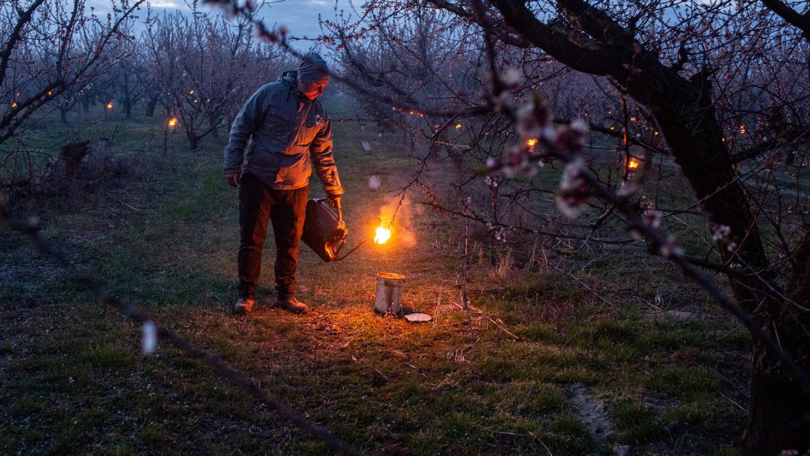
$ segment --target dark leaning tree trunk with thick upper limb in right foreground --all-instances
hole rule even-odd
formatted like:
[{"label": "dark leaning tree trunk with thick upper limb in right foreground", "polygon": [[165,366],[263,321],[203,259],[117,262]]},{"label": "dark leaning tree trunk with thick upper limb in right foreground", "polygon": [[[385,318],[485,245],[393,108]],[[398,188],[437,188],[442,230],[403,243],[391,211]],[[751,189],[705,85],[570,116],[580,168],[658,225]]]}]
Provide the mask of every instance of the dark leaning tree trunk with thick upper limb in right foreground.
[{"label": "dark leaning tree trunk with thick upper limb in right foreground", "polygon": [[[730,238],[739,245],[736,255],[761,277],[729,277],[737,303],[754,313],[762,328],[774,333],[774,338],[807,372],[808,337],[794,320],[795,315],[784,315],[790,306],[769,296],[768,287],[773,279],[769,261],[723,143],[708,75],[698,74],[693,80],[685,80],[676,70],[665,67],[657,54],[641,49],[632,34],[588,2],[558,0],[558,10],[572,24],[569,29],[552,28],[540,22],[522,0],[492,2],[505,23],[521,37],[578,71],[614,78],[630,96],[650,109],[703,209],[712,222],[731,228]],[[719,250],[724,261],[732,260],[723,246]],[[807,298],[810,293],[798,302],[806,304]],[[806,312],[802,315],[804,323],[810,323]],[[779,454],[788,448],[787,444],[806,450],[810,439],[808,402],[808,392],[799,388],[778,359],[759,343],[755,344],[751,403],[744,433],[748,450]]]}]

